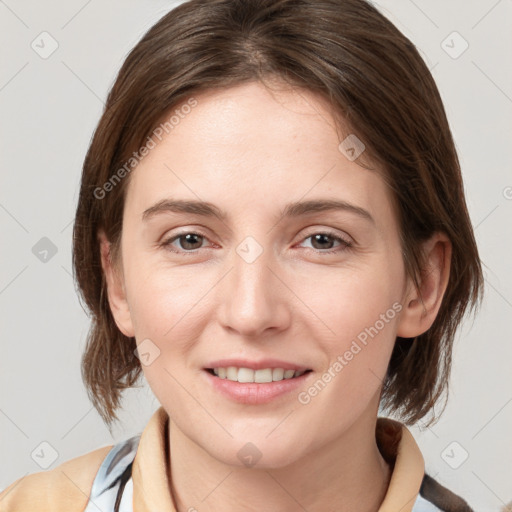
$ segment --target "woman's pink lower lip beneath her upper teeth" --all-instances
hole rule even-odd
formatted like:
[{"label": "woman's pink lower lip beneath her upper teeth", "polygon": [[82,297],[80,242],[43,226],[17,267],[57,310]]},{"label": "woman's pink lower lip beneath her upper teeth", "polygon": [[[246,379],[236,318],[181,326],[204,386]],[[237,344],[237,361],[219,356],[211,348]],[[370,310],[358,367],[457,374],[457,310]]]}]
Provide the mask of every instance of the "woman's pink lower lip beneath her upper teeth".
[{"label": "woman's pink lower lip beneath her upper teeth", "polygon": [[312,372],[303,373],[300,377],[283,379],[276,382],[234,382],[228,379],[221,379],[203,370],[206,378],[214,389],[231,400],[241,404],[266,404],[275,398],[290,393],[304,384],[304,381]]}]

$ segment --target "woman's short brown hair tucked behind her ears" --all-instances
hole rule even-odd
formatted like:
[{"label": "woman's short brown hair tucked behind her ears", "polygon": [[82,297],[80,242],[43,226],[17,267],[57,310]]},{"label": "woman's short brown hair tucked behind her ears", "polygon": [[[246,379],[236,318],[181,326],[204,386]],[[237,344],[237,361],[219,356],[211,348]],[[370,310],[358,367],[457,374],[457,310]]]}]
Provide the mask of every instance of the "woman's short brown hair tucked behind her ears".
[{"label": "woman's short brown hair tucked behind her ears", "polygon": [[190,0],[126,58],[83,165],[73,264],[92,324],[82,376],[108,425],[117,420],[122,390],[142,369],[135,339],[111,314],[98,242],[104,229],[115,263],[130,176],[108,194],[97,191],[162,115],[191,94],[268,78],[320,93],[364,141],[365,158],[384,170],[393,191],[404,264],[416,284],[421,242],[436,231],[450,239],[451,271],[437,318],[417,338],[396,339],[381,404],[411,424],[447,390],[455,331],[481,299],[483,278],[445,110],[418,51],[365,0]]}]

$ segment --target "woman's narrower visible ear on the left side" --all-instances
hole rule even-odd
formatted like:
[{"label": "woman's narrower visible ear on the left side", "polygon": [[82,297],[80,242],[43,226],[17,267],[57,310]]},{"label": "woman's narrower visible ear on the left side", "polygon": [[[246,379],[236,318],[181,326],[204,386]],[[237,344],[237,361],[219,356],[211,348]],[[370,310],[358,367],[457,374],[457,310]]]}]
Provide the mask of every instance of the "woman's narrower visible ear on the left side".
[{"label": "woman's narrower visible ear on the left side", "polygon": [[112,254],[110,250],[110,242],[108,241],[103,230],[98,231],[98,240],[100,242],[101,267],[105,274],[107,283],[108,302],[112,316],[120,331],[128,337],[135,336],[133,323],[126,300],[126,292],[124,287],[124,278],[112,262]]}]

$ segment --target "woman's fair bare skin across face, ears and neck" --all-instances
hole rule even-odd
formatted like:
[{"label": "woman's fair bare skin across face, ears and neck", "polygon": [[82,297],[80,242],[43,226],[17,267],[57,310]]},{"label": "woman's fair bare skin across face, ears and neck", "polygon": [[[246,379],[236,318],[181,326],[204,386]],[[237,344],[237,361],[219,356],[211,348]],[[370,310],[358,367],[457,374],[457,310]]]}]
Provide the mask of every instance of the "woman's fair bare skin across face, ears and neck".
[{"label": "woman's fair bare skin across face, ears and neck", "polygon": [[[391,193],[377,172],[339,151],[322,97],[259,82],[195,97],[197,106],[130,176],[118,265],[99,233],[118,327],[160,350],[142,367],[170,416],[177,510],[376,511],[390,478],[375,441],[382,380],[396,336],[419,335],[435,319],[449,241],[436,234],[425,243],[429,272],[414,289]],[[171,197],[211,202],[228,217],[142,219]],[[288,202],[310,199],[342,199],[373,221],[350,211],[280,218]],[[315,242],[326,231],[351,246]],[[184,233],[201,236],[174,238]],[[252,263],[236,252],[247,236],[263,250]],[[298,392],[394,303],[401,312],[301,404]],[[225,357],[275,357],[313,372],[297,392],[244,405],[207,385],[206,363]],[[237,456],[247,442],[262,454],[251,468]]]}]

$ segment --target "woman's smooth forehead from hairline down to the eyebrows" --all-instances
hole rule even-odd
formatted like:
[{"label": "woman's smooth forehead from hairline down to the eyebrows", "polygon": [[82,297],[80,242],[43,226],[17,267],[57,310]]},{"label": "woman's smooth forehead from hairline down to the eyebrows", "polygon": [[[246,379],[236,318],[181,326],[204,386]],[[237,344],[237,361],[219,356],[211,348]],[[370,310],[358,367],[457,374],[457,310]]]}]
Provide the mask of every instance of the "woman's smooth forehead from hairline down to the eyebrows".
[{"label": "woman's smooth forehead from hairline down to the eyebrows", "polygon": [[370,212],[389,207],[379,174],[340,151],[349,133],[320,95],[251,82],[193,98],[193,108],[166,113],[162,123],[172,117],[172,129],[132,172],[127,202],[137,212],[169,196],[220,201],[238,213],[319,196]]}]

